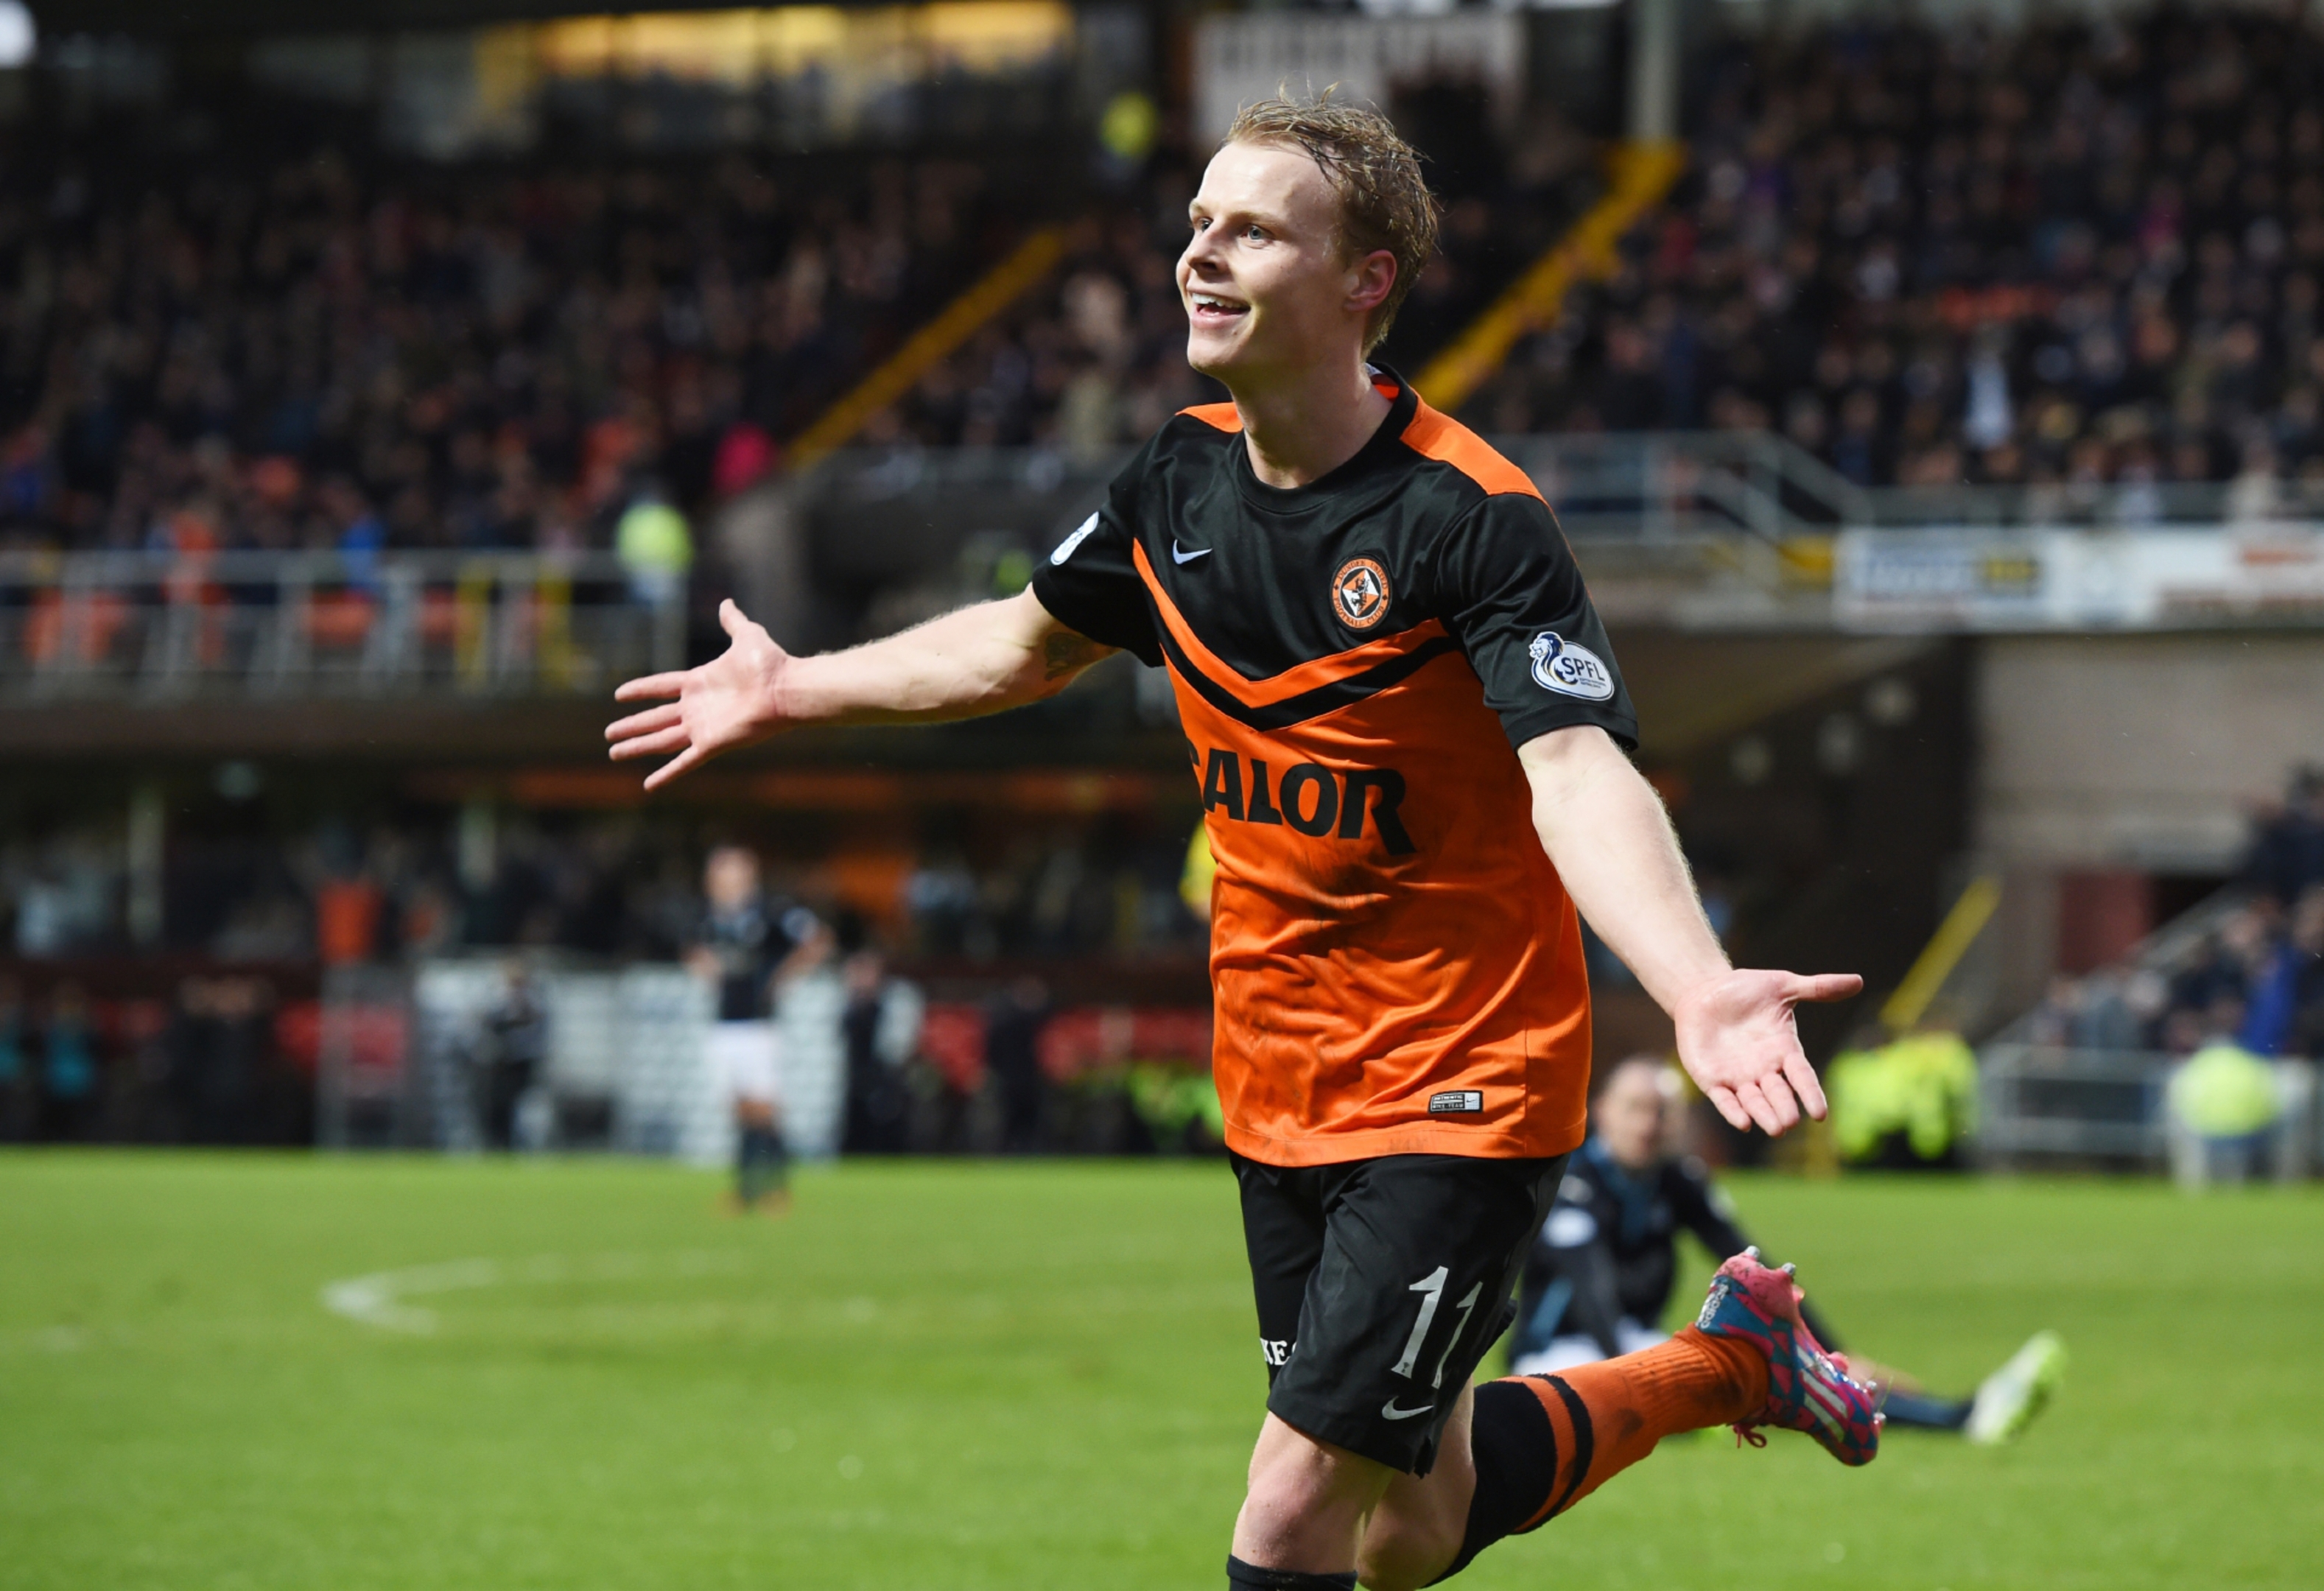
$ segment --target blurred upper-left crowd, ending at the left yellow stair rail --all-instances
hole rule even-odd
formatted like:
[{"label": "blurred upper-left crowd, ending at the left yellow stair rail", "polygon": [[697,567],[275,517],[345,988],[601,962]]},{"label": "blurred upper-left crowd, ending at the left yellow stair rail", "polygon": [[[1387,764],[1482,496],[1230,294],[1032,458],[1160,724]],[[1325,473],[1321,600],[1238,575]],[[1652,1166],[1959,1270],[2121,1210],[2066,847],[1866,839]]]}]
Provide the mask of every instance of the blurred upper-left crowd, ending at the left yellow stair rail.
[{"label": "blurred upper-left crowd, ending at the left yellow stair rail", "polygon": [[0,170],[0,548],[609,546],[632,504],[774,467],[1043,179],[1023,151],[432,167],[209,111],[195,149],[125,118]]}]

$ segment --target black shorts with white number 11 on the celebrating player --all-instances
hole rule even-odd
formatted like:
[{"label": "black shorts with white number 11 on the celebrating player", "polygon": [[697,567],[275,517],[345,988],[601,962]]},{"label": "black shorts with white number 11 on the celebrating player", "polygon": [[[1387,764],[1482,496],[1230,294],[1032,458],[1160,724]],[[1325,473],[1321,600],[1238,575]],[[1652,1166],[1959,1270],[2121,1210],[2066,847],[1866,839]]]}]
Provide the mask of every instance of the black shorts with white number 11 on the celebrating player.
[{"label": "black shorts with white number 11 on the celebrating player", "polygon": [[1267,1410],[1427,1475],[1462,1387],[1515,1312],[1511,1289],[1566,1157],[1232,1159]]}]

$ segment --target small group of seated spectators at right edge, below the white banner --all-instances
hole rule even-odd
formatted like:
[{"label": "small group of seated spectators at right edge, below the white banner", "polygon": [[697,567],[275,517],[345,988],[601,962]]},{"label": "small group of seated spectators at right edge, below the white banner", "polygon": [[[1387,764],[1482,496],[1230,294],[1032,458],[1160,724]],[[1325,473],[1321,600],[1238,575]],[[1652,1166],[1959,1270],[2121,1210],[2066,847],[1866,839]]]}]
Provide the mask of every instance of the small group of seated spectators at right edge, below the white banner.
[{"label": "small group of seated spectators at right edge, below the white banner", "polygon": [[2059,978],[2036,1043],[2187,1057],[2231,1043],[2324,1061],[2324,769],[2261,813],[2236,904],[2171,964]]}]

